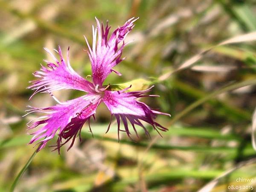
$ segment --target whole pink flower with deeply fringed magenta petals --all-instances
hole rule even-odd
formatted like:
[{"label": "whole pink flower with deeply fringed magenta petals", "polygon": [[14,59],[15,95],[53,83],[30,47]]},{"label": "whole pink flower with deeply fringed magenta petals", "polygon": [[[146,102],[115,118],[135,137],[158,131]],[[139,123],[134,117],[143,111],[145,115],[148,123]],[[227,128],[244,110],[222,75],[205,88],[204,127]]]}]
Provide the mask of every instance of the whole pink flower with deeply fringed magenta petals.
[{"label": "whole pink flower with deeply fringed magenta petals", "polygon": [[[128,35],[134,27],[134,22],[136,20],[137,19],[134,18],[129,19],[123,26],[117,28],[110,38],[108,38],[110,27],[108,27],[107,24],[104,29],[103,24],[100,25],[99,20],[96,19],[97,27],[96,29],[93,28],[92,47],[90,47],[85,38],[89,48],[88,55],[91,61],[93,82],[82,78],[72,69],[68,57],[69,49],[67,50],[67,61],[64,61],[60,47],[58,47],[58,51],[55,50],[58,53],[60,60],[55,58],[55,56],[45,48],[45,50],[52,55],[55,63],[46,61],[48,67],[42,66],[40,71],[34,73],[35,77],[38,77],[38,80],[31,81],[32,85],[28,88],[35,90],[32,96],[36,93],[49,93],[58,104],[47,108],[34,108],[28,106],[31,109],[27,110],[29,111],[27,114],[33,112],[45,113],[44,116],[38,117],[27,124],[29,127],[28,129],[43,125],[41,129],[32,133],[34,137],[32,137],[32,140],[29,143],[31,144],[40,140],[38,143],[41,143],[41,145],[38,147],[37,151],[40,151],[45,147],[47,142],[55,136],[58,129],[59,134],[55,149],[58,149],[59,152],[60,147],[72,139],[70,145],[71,148],[76,136],[78,134],[80,136],[81,128],[86,121],[89,122],[90,127],[90,118],[93,116],[95,119],[94,114],[96,113],[96,108],[101,102],[104,102],[111,112],[111,121],[113,115],[116,117],[118,139],[119,131],[125,131],[128,137],[130,137],[131,133],[128,127],[128,121],[131,123],[136,134],[137,131],[135,125],[138,125],[142,127],[145,133],[149,136],[148,131],[141,121],[152,125],[156,131],[167,131],[166,128],[155,122],[154,119],[157,114],[169,114],[154,111],[145,103],[136,100],[137,98],[144,97],[144,94],[149,92],[152,87],[143,91],[125,92],[130,87],[121,91],[111,91],[108,90],[108,86],[102,85],[103,81],[111,72],[121,75],[113,70],[113,67],[124,59],[121,58],[122,50],[127,44],[124,40],[126,35]],[[96,42],[97,33],[98,41]],[[119,44],[121,45],[119,46]],[[84,91],[87,94],[67,102],[59,102],[51,92],[61,89],[76,89]],[[29,99],[31,99],[32,96]],[[125,130],[120,129],[121,120]],[[108,130],[110,125],[111,122],[108,126]]]}]

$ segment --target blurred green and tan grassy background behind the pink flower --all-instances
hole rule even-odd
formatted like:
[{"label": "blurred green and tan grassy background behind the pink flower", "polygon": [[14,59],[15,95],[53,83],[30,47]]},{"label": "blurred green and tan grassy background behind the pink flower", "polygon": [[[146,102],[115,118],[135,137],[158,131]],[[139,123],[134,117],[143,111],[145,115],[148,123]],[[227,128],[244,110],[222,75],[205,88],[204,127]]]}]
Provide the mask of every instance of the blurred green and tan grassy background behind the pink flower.
[{"label": "blurred green and tan grassy background behind the pink flower", "polygon": [[[0,0],[0,191],[9,191],[18,172],[35,151],[27,145],[26,122],[39,114],[21,117],[26,105],[55,105],[46,93],[32,94],[28,81],[43,59],[50,60],[43,47],[70,46],[70,62],[82,76],[91,74],[83,35],[92,41],[94,17],[111,29],[130,17],[140,17],[128,35],[126,60],[115,67],[122,76],[111,74],[106,83],[133,81],[146,88],[186,59],[219,42],[256,30],[255,0]],[[169,128],[163,138],[148,127],[152,140],[140,131],[137,143],[124,134],[117,142],[117,128],[104,105],[96,111],[94,138],[88,126],[82,142],[76,140],[61,155],[52,148],[41,150],[18,182],[17,192],[192,192],[222,173],[211,189],[229,191],[230,186],[256,187],[256,164],[250,140],[251,120],[256,106],[256,88],[248,85],[219,91],[231,83],[256,79],[256,43],[216,47],[194,67],[154,81],[143,99],[151,108],[172,114],[157,121]],[[144,79],[144,80],[142,80]],[[254,81],[255,84],[255,81]],[[217,91],[217,92],[215,92]],[[209,94],[212,94],[209,97]],[[216,93],[216,94],[215,94]],[[221,94],[220,94],[221,93]],[[65,101],[80,96],[65,90],[55,96]],[[197,103],[199,101],[199,103]],[[197,107],[188,110],[189,105]],[[184,111],[185,110],[185,111]],[[187,111],[186,111],[187,110]],[[56,138],[48,143],[54,145]],[[250,163],[247,160],[251,160]],[[252,178],[252,182],[237,182]],[[232,189],[232,188],[231,188]],[[204,189],[205,191],[205,189]],[[236,191],[236,190],[230,190]]]}]

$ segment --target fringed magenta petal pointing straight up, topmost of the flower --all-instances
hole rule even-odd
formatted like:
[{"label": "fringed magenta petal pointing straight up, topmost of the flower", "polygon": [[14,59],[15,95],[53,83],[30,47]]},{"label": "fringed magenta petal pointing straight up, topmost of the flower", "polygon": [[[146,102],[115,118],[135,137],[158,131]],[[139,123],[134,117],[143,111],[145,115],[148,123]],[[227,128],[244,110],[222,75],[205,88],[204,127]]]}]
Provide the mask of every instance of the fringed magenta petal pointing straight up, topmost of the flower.
[{"label": "fringed magenta petal pointing straight up, topmost of the flower", "polygon": [[[138,18],[137,18],[138,19]],[[94,84],[102,85],[106,77],[113,71],[114,66],[119,64],[124,58],[121,58],[122,50],[125,47],[125,37],[134,27],[134,22],[137,20],[134,18],[129,19],[123,26],[118,27],[111,37],[108,39],[108,33],[110,27],[108,23],[104,29],[103,24],[100,25],[99,20],[96,18],[97,28],[93,27],[93,46],[92,48],[88,44],[88,55],[92,64],[93,82]],[[98,41],[96,43],[98,32]],[[122,45],[118,47],[122,41]],[[120,73],[119,73],[120,75]]]}]

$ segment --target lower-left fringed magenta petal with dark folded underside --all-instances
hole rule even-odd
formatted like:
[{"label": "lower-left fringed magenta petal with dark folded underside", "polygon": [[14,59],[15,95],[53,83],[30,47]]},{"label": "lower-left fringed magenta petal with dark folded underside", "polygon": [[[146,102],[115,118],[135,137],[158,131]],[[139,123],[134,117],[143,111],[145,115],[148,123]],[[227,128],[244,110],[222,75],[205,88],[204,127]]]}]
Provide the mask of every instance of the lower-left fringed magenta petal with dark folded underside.
[{"label": "lower-left fringed magenta petal with dark folded underside", "polygon": [[[89,93],[85,96],[81,96],[77,99],[52,107],[32,108],[29,113],[42,112],[46,113],[46,115],[38,118],[44,118],[43,120],[36,121],[28,125],[28,129],[32,129],[38,125],[45,124],[41,129],[32,133],[34,134],[34,137],[29,144],[43,138],[43,140],[39,142],[41,145],[38,148],[38,151],[40,151],[45,147],[47,142],[55,136],[55,133],[59,128],[60,134],[56,145],[58,150],[64,144],[61,144],[62,139],[66,139],[68,141],[73,137],[74,142],[78,131],[90,116],[95,113],[100,102],[101,99],[99,96]],[[73,145],[73,142],[71,146]]]}]

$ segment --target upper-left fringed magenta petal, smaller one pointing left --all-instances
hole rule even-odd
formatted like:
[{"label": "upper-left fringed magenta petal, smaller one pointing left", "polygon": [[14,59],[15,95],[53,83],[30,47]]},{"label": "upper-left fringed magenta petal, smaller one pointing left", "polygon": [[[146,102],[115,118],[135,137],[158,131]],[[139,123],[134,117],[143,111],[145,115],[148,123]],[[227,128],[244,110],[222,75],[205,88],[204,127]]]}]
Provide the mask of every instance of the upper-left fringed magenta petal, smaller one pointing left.
[{"label": "upper-left fringed magenta petal, smaller one pointing left", "polygon": [[60,61],[58,61],[48,49],[45,48],[45,50],[52,55],[56,63],[53,64],[46,61],[49,68],[42,66],[41,71],[34,73],[34,75],[40,79],[31,81],[32,85],[28,87],[35,90],[33,95],[36,93],[49,93],[61,89],[76,89],[87,93],[94,92],[93,84],[79,76],[70,66],[68,58],[69,49],[67,51],[67,62],[64,61],[60,47],[58,47]]}]

